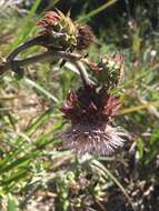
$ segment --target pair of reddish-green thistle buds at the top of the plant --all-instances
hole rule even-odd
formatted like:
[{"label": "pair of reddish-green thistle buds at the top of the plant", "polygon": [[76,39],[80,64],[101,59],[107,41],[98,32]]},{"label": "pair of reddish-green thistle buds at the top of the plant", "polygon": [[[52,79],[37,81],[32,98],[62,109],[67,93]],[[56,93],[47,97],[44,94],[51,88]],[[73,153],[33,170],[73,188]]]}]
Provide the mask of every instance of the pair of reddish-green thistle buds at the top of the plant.
[{"label": "pair of reddish-green thistle buds at the top of the plant", "polygon": [[88,48],[95,39],[90,27],[73,23],[69,13],[64,16],[59,10],[48,11],[37,26],[42,28],[40,34],[47,36],[47,41],[43,42],[47,48],[82,50]]}]

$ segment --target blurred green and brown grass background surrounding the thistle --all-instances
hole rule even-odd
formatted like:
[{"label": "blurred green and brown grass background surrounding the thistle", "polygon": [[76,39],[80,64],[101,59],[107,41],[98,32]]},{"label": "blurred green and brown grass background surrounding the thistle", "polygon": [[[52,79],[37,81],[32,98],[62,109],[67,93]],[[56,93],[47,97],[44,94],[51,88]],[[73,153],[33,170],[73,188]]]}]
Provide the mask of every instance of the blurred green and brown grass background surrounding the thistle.
[{"label": "blurred green and brown grass background surrounding the thistle", "polygon": [[129,137],[118,154],[77,158],[54,138],[66,125],[59,107],[77,87],[74,73],[43,63],[28,67],[21,80],[6,73],[0,78],[0,210],[158,211],[159,1],[0,0],[0,60],[33,37],[34,22],[54,7],[91,26],[97,41],[88,52],[95,60],[99,53],[123,53],[116,124]]}]

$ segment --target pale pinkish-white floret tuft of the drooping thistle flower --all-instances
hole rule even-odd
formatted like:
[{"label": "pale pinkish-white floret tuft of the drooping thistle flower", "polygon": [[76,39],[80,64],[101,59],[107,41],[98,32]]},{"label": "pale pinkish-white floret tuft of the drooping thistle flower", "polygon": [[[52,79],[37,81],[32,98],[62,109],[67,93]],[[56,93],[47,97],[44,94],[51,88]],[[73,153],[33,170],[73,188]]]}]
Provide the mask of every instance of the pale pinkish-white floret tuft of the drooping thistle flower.
[{"label": "pale pinkish-white floret tuft of the drooping thistle flower", "polygon": [[109,124],[74,124],[63,133],[67,148],[78,154],[109,155],[123,145],[120,132]]}]

